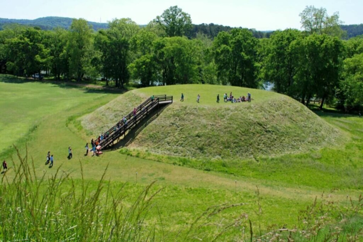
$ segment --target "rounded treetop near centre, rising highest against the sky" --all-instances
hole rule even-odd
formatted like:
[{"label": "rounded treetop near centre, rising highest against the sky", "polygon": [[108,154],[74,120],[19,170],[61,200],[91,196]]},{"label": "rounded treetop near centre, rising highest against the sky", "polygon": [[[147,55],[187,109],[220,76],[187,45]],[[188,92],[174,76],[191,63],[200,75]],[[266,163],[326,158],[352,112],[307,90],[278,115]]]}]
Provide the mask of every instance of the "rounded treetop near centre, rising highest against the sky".
[{"label": "rounded treetop near centre, rising highest against the sky", "polygon": [[169,37],[183,36],[192,28],[190,15],[183,12],[178,6],[166,9],[154,21],[164,29]]}]

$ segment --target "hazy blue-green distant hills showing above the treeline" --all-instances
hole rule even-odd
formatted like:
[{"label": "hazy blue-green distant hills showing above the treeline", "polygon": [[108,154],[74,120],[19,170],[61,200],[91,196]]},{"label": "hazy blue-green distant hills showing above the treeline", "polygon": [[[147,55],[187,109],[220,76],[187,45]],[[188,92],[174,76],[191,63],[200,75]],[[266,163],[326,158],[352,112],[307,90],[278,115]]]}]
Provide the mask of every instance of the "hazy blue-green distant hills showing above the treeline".
[{"label": "hazy blue-green distant hills showing above the treeline", "polygon": [[[38,27],[42,30],[52,30],[57,27],[61,27],[64,29],[69,29],[72,24],[72,18],[66,17],[42,17],[34,20],[28,19],[2,19],[0,18],[0,30],[3,29],[3,26],[6,24],[22,24],[33,27]],[[108,23],[98,23],[98,22],[90,22],[88,24],[92,25],[92,28],[97,31],[99,29],[107,29],[109,28]],[[143,27],[146,25],[140,25]],[[241,28],[241,27],[240,27]],[[340,25],[344,31],[346,31],[346,39],[359,36],[363,34],[363,24],[351,24],[351,25]],[[191,30],[185,35],[188,38],[195,38],[197,33],[203,33],[209,38],[214,38],[221,31],[231,31],[232,27],[224,26],[219,24],[192,24]],[[249,29],[255,38],[269,38],[273,31],[258,31],[256,29]]]}]

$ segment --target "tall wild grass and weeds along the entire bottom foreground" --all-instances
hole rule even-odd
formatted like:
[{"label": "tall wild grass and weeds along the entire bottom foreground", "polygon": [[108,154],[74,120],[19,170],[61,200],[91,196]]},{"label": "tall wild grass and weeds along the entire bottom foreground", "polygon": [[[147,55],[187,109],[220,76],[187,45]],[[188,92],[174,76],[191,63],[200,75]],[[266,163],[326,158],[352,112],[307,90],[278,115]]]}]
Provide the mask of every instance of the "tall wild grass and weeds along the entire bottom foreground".
[{"label": "tall wild grass and weeds along the entire bottom foreground", "polygon": [[322,195],[288,228],[264,221],[257,188],[257,220],[244,211],[246,203],[221,204],[173,231],[153,202],[164,192],[154,182],[130,202],[127,186],[114,192],[104,180],[107,168],[90,189],[82,164],[80,183],[60,168],[53,176],[37,176],[28,153],[22,157],[16,152],[19,162],[1,174],[0,241],[363,241],[362,196],[356,201],[347,196],[343,206]]}]

